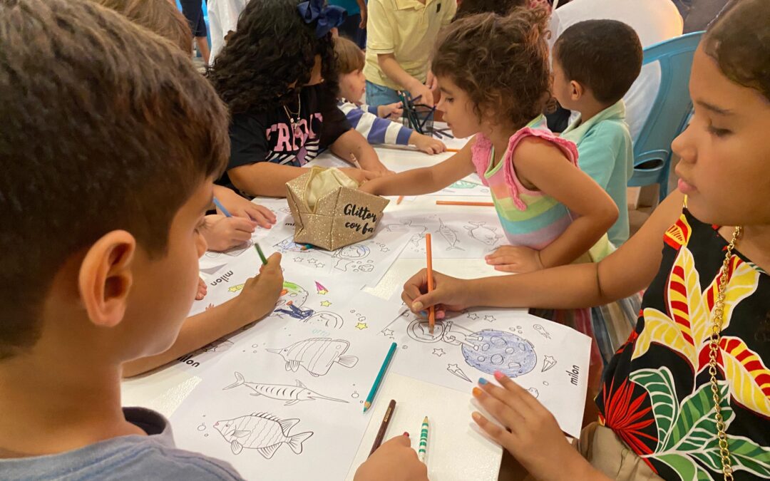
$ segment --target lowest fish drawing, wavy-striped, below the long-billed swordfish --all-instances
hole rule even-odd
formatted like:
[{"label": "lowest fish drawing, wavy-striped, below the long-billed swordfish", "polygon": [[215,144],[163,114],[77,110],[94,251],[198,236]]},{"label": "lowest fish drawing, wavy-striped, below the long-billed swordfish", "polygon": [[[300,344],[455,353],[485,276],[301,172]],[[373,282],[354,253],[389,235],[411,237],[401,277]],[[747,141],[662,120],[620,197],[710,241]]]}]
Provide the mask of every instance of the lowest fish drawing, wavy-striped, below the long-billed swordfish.
[{"label": "lowest fish drawing, wavy-striped, below the long-billed swordfish", "polygon": [[239,454],[243,448],[256,449],[265,459],[270,459],[284,443],[294,453],[302,453],[302,443],[313,436],[313,432],[290,435],[289,431],[299,422],[300,419],[281,420],[268,413],[253,413],[217,421],[214,428],[230,443],[233,454]]}]

